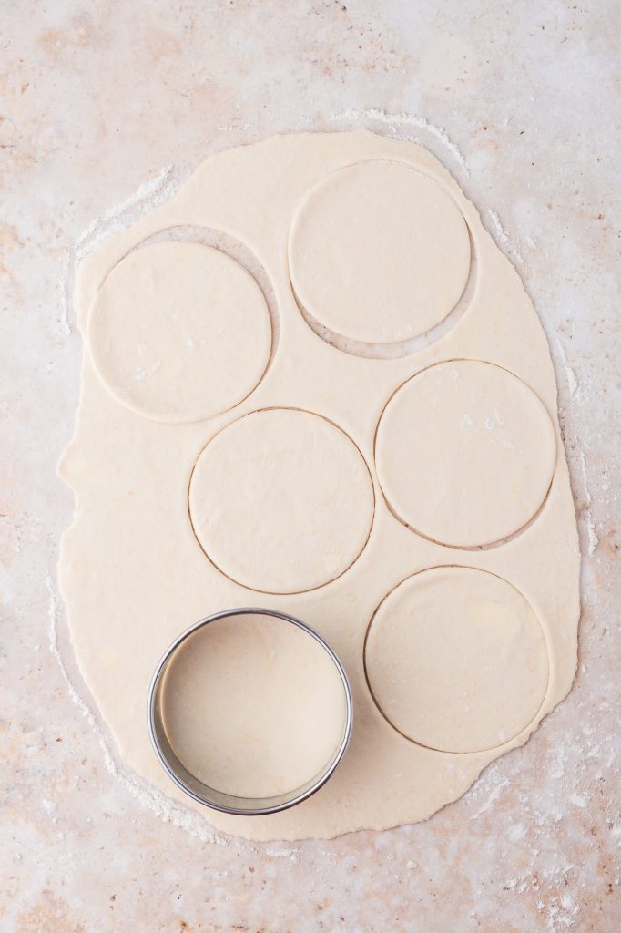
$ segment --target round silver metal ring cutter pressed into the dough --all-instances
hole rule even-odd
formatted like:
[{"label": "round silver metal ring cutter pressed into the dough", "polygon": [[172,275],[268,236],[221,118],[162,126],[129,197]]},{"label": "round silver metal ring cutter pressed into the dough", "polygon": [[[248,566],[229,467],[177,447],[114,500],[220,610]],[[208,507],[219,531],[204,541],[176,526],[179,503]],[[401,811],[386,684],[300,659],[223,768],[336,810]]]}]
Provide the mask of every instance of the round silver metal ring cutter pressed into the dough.
[{"label": "round silver metal ring cutter pressed into the dough", "polygon": [[[332,757],[328,759],[322,771],[311,777],[306,784],[275,797],[238,797],[204,784],[195,777],[194,774],[187,771],[184,764],[177,758],[164,726],[162,702],[164,675],[170,663],[173,661],[177,650],[186,643],[188,638],[191,638],[193,634],[196,634],[205,625],[209,625],[211,622],[218,619],[228,619],[229,617],[246,615],[269,616],[273,619],[289,622],[291,625],[297,626],[298,629],[301,629],[302,632],[305,632],[309,637],[314,638],[314,640],[324,648],[324,651],[337,668],[345,695],[346,712],[342,737]],[[275,612],[270,609],[250,607],[225,609],[222,612],[214,613],[212,616],[206,616],[204,619],[200,619],[198,622],[190,625],[185,632],[180,634],[178,638],[175,638],[173,644],[163,654],[156,667],[148,692],[148,730],[151,743],[164,771],[168,773],[176,786],[180,787],[193,800],[211,807],[212,810],[218,810],[220,813],[239,816],[264,816],[279,813],[282,810],[288,810],[289,807],[293,807],[297,803],[307,800],[312,794],[319,790],[320,787],[324,786],[328,778],[335,772],[340,759],[342,759],[349,745],[353,724],[352,706],[352,688],[350,687],[345,669],[338,659],[338,655],[318,632],[311,629],[310,625],[296,619],[295,616],[288,616],[283,612]]]}]

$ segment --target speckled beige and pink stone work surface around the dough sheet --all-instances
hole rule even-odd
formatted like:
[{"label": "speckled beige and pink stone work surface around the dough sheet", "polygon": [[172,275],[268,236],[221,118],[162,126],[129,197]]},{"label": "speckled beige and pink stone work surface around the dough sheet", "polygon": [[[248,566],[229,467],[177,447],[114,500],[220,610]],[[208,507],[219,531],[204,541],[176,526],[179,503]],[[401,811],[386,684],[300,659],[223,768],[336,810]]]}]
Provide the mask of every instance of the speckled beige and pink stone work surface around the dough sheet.
[{"label": "speckled beige and pink stone work surface around the dough sheet", "polygon": [[[618,5],[8,0],[0,20],[2,933],[616,933]],[[541,316],[584,551],[579,671],[426,823],[214,842],[136,796],[65,679],[91,703],[55,596],[82,351],[65,293],[84,231],[148,179],[157,200],[216,148],[358,126],[445,162]]]}]

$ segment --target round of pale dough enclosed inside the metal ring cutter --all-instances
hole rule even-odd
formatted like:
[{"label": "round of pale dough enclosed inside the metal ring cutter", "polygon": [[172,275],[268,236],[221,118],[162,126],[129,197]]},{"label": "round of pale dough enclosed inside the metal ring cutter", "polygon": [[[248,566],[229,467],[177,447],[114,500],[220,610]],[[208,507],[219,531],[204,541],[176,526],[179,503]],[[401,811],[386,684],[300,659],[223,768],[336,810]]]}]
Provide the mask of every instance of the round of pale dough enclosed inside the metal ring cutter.
[{"label": "round of pale dough enclosed inside the metal ring cutter", "polygon": [[214,620],[192,634],[165,675],[168,739],[208,787],[272,797],[320,773],[342,740],[345,692],[334,661],[290,622]]}]

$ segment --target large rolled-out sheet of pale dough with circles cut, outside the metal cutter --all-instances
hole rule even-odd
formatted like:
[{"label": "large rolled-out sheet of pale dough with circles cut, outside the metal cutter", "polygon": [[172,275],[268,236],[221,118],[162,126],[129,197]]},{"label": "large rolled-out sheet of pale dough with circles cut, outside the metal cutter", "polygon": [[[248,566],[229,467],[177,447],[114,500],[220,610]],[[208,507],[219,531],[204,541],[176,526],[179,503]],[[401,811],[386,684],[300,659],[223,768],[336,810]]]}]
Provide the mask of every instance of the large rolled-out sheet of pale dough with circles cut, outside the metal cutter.
[{"label": "large rolled-out sheet of pale dough with circles cut, outside the metal cutter", "polygon": [[[138,773],[226,832],[331,837],[424,819],[526,741],[576,663],[557,389],[517,273],[433,156],[366,132],[219,153],[83,261],[76,298],[62,593]],[[268,817],[194,804],[145,725],[163,651],[236,606],[305,620],[352,683],[337,772]]]}]

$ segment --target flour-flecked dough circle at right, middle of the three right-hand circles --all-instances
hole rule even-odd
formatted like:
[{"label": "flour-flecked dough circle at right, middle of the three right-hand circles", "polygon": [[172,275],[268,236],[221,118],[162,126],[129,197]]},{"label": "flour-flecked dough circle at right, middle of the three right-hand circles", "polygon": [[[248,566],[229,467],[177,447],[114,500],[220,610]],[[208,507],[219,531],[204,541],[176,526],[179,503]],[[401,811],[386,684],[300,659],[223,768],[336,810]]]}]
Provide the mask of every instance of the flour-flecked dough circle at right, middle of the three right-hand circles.
[{"label": "flour-flecked dough circle at right, middle of the three right-hand circles", "polygon": [[401,386],[376,439],[382,492],[399,521],[455,548],[515,534],[545,500],[556,439],[539,398],[490,363],[438,363]]}]

